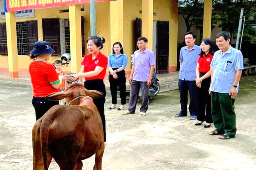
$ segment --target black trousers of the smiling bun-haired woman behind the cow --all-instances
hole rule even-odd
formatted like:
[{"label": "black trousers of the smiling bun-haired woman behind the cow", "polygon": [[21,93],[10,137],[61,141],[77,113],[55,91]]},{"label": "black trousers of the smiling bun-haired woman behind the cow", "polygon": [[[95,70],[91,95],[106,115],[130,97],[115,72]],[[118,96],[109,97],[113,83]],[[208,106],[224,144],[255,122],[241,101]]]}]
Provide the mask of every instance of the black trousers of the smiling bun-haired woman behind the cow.
[{"label": "black trousers of the smiling bun-haired woman behind the cow", "polygon": [[104,131],[104,141],[106,141],[106,119],[105,119],[105,111],[104,111],[104,103],[106,101],[106,88],[105,84],[102,79],[96,79],[96,80],[86,80],[84,82],[84,87],[88,90],[97,90],[99,92],[102,92],[104,94],[104,97],[101,98],[93,98],[93,102],[96,105],[97,109],[99,110],[99,114],[102,118],[102,125],[103,125],[103,131]]}]

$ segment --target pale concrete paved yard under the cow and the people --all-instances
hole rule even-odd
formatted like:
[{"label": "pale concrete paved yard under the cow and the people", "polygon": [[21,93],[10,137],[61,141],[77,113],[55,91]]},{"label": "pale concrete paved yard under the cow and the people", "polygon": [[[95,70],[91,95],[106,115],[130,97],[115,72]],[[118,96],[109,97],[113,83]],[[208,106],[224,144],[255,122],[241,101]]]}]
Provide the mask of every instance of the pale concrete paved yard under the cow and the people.
[{"label": "pale concrete paved yard under the cow and the people", "polygon": [[[35,123],[31,89],[0,88],[0,170],[31,170],[31,129]],[[106,110],[107,142],[102,170],[256,170],[256,76],[241,81],[235,101],[237,135],[219,140],[214,127],[195,126],[179,112],[179,92],[154,97],[145,117]],[[107,97],[105,108],[111,104]],[[127,107],[127,106],[126,106]],[[83,161],[93,170],[94,156]],[[50,170],[58,170],[55,162]]]}]

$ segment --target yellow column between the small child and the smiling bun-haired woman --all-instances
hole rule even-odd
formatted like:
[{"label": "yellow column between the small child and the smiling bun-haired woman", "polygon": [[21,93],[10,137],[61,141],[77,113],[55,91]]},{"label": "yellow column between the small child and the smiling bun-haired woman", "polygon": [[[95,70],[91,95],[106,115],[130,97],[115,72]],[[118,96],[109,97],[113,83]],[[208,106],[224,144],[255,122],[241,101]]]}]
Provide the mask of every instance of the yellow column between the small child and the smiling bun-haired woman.
[{"label": "yellow column between the small child and the smiling bun-haired woman", "polygon": [[80,72],[82,61],[82,33],[80,5],[69,6],[71,72]]}]

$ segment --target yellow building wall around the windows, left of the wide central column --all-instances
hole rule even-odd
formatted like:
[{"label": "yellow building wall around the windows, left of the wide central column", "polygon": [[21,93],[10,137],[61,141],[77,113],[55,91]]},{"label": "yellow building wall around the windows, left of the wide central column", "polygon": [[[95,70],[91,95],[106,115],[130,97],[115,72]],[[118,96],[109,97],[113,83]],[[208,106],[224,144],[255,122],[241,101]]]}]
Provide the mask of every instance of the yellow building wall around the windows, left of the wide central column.
[{"label": "yellow building wall around the windows, left of the wide central column", "polygon": [[[84,8],[84,11],[81,11],[81,16],[85,18],[85,40],[90,36],[90,22],[89,22],[89,4],[81,5],[81,8]],[[37,36],[38,41],[43,41],[43,29],[42,29],[42,18],[69,18],[69,12],[59,13],[59,10],[67,10],[68,6],[56,7],[56,8],[48,8],[48,9],[35,9],[35,17],[34,18],[16,18],[16,22],[22,21],[34,21],[37,20]],[[87,10],[88,9],[88,10]],[[99,33],[99,36],[103,36],[104,38],[108,37],[108,13],[109,13],[109,3],[101,2],[96,3],[96,33]],[[106,15],[107,14],[107,15]],[[6,22],[6,20],[0,20],[0,23]],[[109,45],[108,39],[104,43],[104,48],[101,52],[105,55],[108,55]],[[86,48],[86,45],[85,45]],[[87,50],[87,49],[86,49]],[[88,51],[86,51],[88,53]],[[72,56],[71,56],[72,58]],[[30,64],[30,60],[28,56],[18,55],[18,64],[19,64],[19,72],[28,73],[28,66]],[[59,57],[50,57],[49,63],[54,63],[55,60],[60,60]],[[0,71],[8,71],[8,57],[5,55],[0,55]],[[71,60],[72,62],[72,60]],[[77,63],[77,66],[80,66],[80,63]],[[71,68],[63,67],[64,70],[70,71]]]}]

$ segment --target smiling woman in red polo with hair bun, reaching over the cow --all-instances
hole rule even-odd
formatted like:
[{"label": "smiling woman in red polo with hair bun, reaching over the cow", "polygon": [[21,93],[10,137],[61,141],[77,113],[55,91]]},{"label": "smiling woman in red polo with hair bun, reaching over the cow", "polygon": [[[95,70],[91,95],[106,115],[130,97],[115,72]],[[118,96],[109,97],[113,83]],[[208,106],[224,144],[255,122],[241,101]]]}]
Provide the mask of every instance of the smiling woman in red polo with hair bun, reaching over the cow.
[{"label": "smiling woman in red polo with hair bun, reaching over the cow", "polygon": [[87,49],[90,54],[84,56],[81,63],[82,69],[79,73],[74,74],[75,79],[84,77],[84,87],[88,90],[97,90],[104,94],[104,97],[94,98],[93,102],[99,110],[102,118],[102,125],[104,131],[104,139],[106,141],[106,120],[104,114],[104,103],[106,101],[106,89],[103,79],[106,75],[108,66],[108,58],[103,55],[99,50],[103,48],[105,39],[101,36],[91,36],[87,39]]}]

